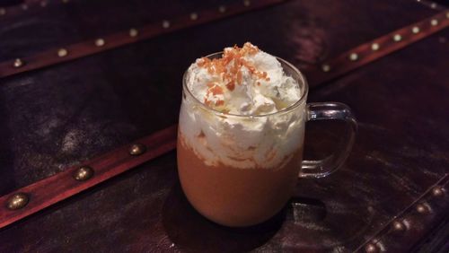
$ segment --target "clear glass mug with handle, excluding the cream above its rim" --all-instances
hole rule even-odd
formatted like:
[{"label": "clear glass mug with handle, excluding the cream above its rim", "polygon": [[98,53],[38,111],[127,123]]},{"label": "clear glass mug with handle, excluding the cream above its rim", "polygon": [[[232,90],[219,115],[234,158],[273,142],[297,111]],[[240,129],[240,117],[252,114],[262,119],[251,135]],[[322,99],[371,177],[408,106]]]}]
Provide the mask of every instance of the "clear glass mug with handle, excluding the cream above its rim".
[{"label": "clear glass mug with handle, excluding the cream above its rim", "polygon": [[[244,227],[269,220],[293,195],[298,177],[321,178],[339,169],[354,143],[357,121],[348,106],[306,104],[304,75],[277,60],[299,85],[301,97],[267,115],[232,115],[207,107],[189,91],[189,73],[183,76],[177,144],[180,184],[189,203],[213,222]],[[348,122],[346,135],[336,153],[321,161],[303,161],[305,122],[323,119]]]}]

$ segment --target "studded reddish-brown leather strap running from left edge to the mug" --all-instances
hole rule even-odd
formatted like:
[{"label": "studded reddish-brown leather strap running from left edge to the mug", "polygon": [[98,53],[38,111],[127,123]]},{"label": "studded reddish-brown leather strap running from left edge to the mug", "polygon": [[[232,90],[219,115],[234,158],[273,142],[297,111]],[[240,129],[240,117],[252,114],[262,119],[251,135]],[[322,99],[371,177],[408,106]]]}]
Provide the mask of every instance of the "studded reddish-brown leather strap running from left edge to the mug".
[{"label": "studded reddish-brown leather strap running from left edge to the mug", "polygon": [[[176,147],[176,131],[177,126],[167,127],[136,140],[134,145],[123,145],[90,161],[84,161],[79,166],[0,197],[0,228],[172,151]],[[48,190],[49,188],[52,190]],[[11,210],[8,205],[12,205],[11,201],[17,194],[25,195],[29,203],[23,208]]]}]

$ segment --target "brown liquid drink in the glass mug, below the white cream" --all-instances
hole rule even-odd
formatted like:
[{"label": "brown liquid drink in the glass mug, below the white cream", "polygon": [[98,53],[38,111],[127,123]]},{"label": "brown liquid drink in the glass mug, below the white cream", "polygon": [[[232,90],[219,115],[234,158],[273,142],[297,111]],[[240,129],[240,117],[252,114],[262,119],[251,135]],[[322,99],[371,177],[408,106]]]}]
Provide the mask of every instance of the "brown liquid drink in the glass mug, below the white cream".
[{"label": "brown liquid drink in the glass mug, below the white cream", "polygon": [[208,166],[178,139],[180,181],[191,205],[209,220],[226,226],[250,226],[268,220],[292,196],[303,150],[281,168],[238,169]]}]

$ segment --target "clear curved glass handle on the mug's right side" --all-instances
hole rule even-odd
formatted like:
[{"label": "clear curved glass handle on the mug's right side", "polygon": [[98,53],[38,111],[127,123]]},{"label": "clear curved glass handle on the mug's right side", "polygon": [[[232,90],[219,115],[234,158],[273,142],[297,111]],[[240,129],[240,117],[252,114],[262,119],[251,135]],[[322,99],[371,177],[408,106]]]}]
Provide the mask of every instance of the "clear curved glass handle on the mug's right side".
[{"label": "clear curved glass handle on the mug's right side", "polygon": [[357,134],[357,120],[346,104],[339,102],[320,102],[307,104],[307,121],[339,119],[347,122],[348,127],[341,137],[335,153],[322,160],[303,161],[299,178],[322,178],[339,169],[354,144]]}]

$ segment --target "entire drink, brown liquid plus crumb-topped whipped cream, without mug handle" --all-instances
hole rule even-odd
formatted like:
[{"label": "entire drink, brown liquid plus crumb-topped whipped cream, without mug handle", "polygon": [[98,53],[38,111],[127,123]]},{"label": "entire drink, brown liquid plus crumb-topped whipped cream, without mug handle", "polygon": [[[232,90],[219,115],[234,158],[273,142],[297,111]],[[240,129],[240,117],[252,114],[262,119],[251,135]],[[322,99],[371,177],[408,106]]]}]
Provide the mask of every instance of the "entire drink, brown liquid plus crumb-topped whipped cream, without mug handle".
[{"label": "entire drink, brown liquid plus crumb-topped whipped cream, without mug handle", "polygon": [[305,91],[286,62],[246,43],[199,58],[184,75],[178,136],[189,202],[227,226],[286,204],[301,167]]}]

